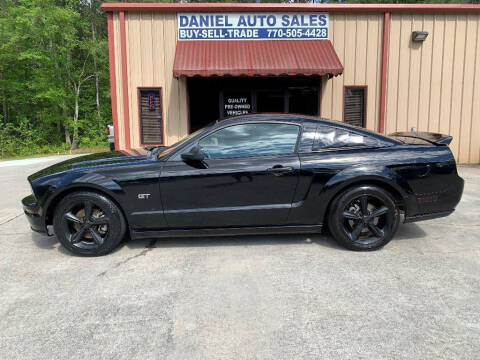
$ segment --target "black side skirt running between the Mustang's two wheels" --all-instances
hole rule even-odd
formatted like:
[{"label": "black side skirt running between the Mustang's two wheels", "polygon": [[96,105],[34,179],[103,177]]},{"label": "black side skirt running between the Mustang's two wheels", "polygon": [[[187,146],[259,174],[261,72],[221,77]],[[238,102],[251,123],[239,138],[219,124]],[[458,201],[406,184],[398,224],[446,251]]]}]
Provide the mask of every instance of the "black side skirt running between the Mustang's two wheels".
[{"label": "black side skirt running between the Mustang's two wheels", "polygon": [[322,225],[290,225],[290,226],[259,226],[231,227],[210,229],[170,229],[170,230],[139,230],[131,231],[132,239],[151,239],[165,237],[203,237],[203,236],[234,236],[234,235],[265,235],[265,234],[311,234],[319,233]]}]

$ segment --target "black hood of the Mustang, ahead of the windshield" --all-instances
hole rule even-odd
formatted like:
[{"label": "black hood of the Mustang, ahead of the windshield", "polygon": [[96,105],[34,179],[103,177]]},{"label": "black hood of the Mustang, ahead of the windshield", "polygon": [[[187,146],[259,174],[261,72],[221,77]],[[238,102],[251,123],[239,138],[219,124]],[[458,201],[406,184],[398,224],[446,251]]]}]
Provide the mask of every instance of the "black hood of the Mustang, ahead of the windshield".
[{"label": "black hood of the Mustang, ahead of the windshield", "polygon": [[75,170],[80,168],[91,168],[97,166],[123,164],[128,162],[136,162],[146,160],[147,155],[129,156],[120,151],[111,151],[104,153],[95,153],[75,157],[65,160],[42,169],[28,177],[28,181],[32,182],[40,177],[61,173],[64,171]]}]

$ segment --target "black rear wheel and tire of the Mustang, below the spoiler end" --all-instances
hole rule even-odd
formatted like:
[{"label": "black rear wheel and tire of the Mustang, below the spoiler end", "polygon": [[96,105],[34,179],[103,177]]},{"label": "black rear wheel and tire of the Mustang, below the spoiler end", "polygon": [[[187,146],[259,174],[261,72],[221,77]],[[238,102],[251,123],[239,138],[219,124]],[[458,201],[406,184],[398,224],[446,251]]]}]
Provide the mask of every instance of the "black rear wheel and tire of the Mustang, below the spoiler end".
[{"label": "black rear wheel and tire of the Mustang, below the spoiler end", "polygon": [[349,188],[332,202],[328,217],[330,232],[351,250],[375,250],[395,235],[400,212],[392,195],[373,185]]}]

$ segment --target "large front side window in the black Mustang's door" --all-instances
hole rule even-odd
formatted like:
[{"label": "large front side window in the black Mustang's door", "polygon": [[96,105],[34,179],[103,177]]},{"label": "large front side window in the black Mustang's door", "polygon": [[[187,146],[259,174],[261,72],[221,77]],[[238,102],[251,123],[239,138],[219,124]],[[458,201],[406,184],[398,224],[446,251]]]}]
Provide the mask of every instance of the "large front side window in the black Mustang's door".
[{"label": "large front side window in the black Mustang's door", "polygon": [[288,154],[295,152],[300,127],[293,124],[252,123],[220,129],[198,142],[208,158]]}]

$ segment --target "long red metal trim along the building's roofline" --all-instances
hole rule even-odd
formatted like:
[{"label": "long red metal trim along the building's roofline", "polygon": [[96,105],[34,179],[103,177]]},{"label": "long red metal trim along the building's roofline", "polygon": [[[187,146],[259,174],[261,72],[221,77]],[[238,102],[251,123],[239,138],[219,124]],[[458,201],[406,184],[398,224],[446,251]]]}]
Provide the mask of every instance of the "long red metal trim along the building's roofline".
[{"label": "long red metal trim along the building's roofline", "polygon": [[104,3],[105,12],[480,12],[478,4]]}]

